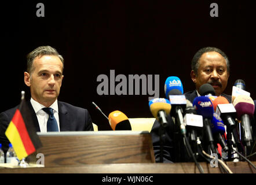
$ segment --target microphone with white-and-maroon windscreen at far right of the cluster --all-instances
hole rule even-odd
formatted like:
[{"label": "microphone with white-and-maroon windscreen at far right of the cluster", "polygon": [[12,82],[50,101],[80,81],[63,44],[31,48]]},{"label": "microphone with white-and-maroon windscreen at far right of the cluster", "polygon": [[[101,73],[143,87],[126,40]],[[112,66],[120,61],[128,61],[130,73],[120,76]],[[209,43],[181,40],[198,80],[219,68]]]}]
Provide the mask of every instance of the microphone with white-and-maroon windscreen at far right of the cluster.
[{"label": "microphone with white-and-maroon windscreen at far right of the cluster", "polygon": [[243,140],[246,146],[250,147],[253,141],[253,136],[251,132],[250,117],[253,117],[255,104],[251,97],[247,95],[238,95],[233,102],[236,109],[237,119],[241,121],[243,128]]}]

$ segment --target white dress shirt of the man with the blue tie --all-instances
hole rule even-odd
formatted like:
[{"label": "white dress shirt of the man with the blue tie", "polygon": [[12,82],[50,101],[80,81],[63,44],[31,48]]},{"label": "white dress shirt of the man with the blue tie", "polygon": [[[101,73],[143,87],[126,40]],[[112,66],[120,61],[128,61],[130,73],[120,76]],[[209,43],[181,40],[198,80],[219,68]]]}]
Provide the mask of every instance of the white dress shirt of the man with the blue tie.
[{"label": "white dress shirt of the man with the blue tie", "polygon": [[[30,99],[31,105],[35,110],[36,117],[38,119],[39,127],[41,132],[47,132],[47,120],[49,118],[49,114],[44,112],[42,108],[45,108],[46,106],[42,105],[41,103],[36,102],[33,98]],[[58,102],[56,101],[49,106],[53,109],[53,115],[57,121],[58,124],[58,131],[60,131],[60,121],[58,119]]]}]

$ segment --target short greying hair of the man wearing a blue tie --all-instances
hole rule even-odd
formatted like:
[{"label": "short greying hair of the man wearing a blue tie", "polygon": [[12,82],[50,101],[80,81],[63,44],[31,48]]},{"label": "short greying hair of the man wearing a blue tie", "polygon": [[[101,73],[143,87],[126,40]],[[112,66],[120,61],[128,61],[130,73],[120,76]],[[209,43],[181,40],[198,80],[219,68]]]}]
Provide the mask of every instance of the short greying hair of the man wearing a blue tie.
[{"label": "short greying hair of the man wearing a blue tie", "polygon": [[64,58],[58,54],[58,51],[51,46],[40,46],[37,47],[35,50],[31,51],[27,55],[27,72],[31,73],[34,69],[32,68],[33,61],[36,57],[42,56],[57,56],[60,58],[61,62],[63,63],[64,69]]}]

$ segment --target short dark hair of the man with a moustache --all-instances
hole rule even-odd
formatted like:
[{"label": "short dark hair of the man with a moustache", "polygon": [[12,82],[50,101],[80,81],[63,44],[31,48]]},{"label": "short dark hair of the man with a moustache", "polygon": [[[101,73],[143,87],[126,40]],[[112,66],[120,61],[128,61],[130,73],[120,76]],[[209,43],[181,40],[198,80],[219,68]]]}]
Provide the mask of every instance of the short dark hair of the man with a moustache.
[{"label": "short dark hair of the man with a moustache", "polygon": [[191,61],[191,69],[195,72],[196,75],[198,75],[198,68],[199,68],[199,59],[202,56],[202,54],[206,53],[206,52],[210,52],[210,51],[215,51],[217,53],[220,53],[222,57],[224,57],[224,59],[226,60],[226,67],[228,70],[228,73],[230,71],[230,63],[228,60],[228,56],[226,56],[226,54],[221,51],[220,49],[218,49],[217,47],[203,47],[202,49],[198,50],[198,52],[196,52],[195,56],[193,57],[192,61]]}]

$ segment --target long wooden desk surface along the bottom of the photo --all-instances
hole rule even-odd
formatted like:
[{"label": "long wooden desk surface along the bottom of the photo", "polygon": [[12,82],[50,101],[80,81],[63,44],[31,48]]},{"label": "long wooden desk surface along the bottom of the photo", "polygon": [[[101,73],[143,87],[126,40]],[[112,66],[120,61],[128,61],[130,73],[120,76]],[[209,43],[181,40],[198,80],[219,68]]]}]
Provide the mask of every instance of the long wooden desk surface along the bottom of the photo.
[{"label": "long wooden desk surface along the bottom of the photo", "polygon": [[[253,161],[256,165],[256,161]],[[207,162],[200,162],[204,173],[221,173],[220,168],[211,168]],[[248,162],[226,162],[233,173],[256,173]],[[199,173],[193,162],[175,164],[88,164],[81,166],[51,166],[45,168],[0,168],[0,173]]]}]

